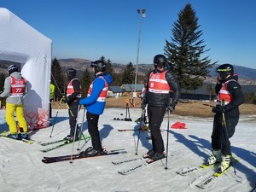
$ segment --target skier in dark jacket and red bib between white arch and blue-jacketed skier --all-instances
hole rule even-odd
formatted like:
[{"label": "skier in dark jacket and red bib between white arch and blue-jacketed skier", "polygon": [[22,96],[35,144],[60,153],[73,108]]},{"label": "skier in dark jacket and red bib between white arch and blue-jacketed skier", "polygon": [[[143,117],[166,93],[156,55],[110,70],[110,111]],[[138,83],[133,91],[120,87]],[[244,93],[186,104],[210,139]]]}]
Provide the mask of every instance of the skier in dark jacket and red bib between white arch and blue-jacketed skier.
[{"label": "skier in dark jacket and red bib between white arch and blue-jacketed skier", "polygon": [[[67,103],[69,110],[69,125],[70,134],[64,139],[67,140],[65,143],[73,143],[73,141],[79,140],[79,131],[75,131],[77,124],[77,117],[79,111],[79,98],[81,97],[81,83],[76,78],[77,71],[73,68],[68,68],[66,72],[69,83],[67,84],[67,94],[63,97],[63,102]],[[75,135],[76,133],[76,135]]]}]

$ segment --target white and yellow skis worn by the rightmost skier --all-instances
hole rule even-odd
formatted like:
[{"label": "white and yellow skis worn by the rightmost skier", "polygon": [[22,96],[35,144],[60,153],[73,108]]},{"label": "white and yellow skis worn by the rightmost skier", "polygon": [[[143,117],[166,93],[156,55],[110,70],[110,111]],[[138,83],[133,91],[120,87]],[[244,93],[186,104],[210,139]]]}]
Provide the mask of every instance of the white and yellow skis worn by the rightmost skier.
[{"label": "white and yellow skis worn by the rightmost skier", "polygon": [[[218,177],[221,177],[225,172],[227,172],[237,162],[238,162],[238,160],[236,158],[232,158],[230,166],[227,169],[225,169],[224,172],[214,172],[212,175],[208,176],[207,178],[205,178],[200,183],[197,183],[195,186],[198,187],[198,188],[201,188],[201,189],[207,189],[207,187],[209,186],[210,183],[212,183]],[[182,175],[182,176],[187,176],[187,175],[190,175],[194,172],[198,172],[198,171],[210,168],[210,167],[218,166],[219,164],[220,163],[218,162],[218,163],[212,164],[210,166],[207,166],[207,165],[204,165],[204,164],[201,165],[201,166],[191,166],[191,167],[183,169],[181,172],[177,172],[177,173]]]}]

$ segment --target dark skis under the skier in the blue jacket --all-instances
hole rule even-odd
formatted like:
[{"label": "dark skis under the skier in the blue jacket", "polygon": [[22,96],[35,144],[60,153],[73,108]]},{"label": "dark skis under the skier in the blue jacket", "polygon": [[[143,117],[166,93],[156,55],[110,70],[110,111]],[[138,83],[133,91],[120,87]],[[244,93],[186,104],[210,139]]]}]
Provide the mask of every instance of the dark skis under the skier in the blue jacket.
[{"label": "dark skis under the skier in the blue jacket", "polygon": [[49,163],[56,163],[61,161],[67,161],[67,160],[80,160],[80,159],[86,159],[86,158],[96,158],[96,157],[102,157],[102,156],[109,156],[114,154],[126,154],[127,151],[122,149],[115,149],[110,150],[106,154],[97,155],[97,156],[87,156],[84,154],[84,151],[80,152],[79,154],[73,154],[73,155],[63,155],[63,156],[56,156],[56,157],[44,157],[44,160],[42,162],[49,164]]}]

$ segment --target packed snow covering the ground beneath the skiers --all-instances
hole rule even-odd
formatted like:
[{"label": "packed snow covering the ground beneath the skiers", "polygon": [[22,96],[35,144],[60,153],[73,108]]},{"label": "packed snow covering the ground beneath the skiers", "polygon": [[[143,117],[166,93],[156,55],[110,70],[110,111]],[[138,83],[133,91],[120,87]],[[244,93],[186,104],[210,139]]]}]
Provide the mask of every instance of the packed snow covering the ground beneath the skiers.
[{"label": "packed snow covering the ground beneath the skiers", "polygon": [[[53,124],[56,109],[53,110]],[[128,162],[119,166],[112,161],[129,160],[142,157],[151,148],[150,133],[143,131],[137,148],[138,131],[118,131],[118,129],[137,129],[135,122],[141,115],[141,109],[130,108],[132,121],[113,120],[129,118],[125,108],[106,108],[99,120],[102,145],[108,150],[125,148],[127,154],[100,156],[90,159],[69,160],[52,164],[44,164],[44,156],[77,154],[77,148],[84,150],[88,143],[76,142],[55,150],[43,153],[40,150],[54,145],[41,146],[38,143],[27,144],[9,138],[0,137],[0,191],[26,192],[67,192],[67,191],[251,191],[256,183],[256,115],[241,115],[236,126],[236,133],[230,139],[232,152],[239,160],[221,177],[209,183],[207,189],[196,187],[213,174],[216,167],[207,168],[188,176],[177,172],[190,166],[199,166],[211,154],[212,118],[182,117],[171,114],[162,123],[161,129],[165,140],[169,135],[169,150],[166,159],[143,166],[128,175],[120,175],[119,171],[138,166],[143,160]],[[4,119],[5,110],[0,111],[0,132],[9,131]],[[84,109],[79,111],[79,125],[83,122]],[[84,118],[85,119],[85,118]],[[187,129],[169,129],[175,122],[186,124]],[[50,133],[52,131],[52,137]],[[86,120],[83,131],[88,134]],[[36,142],[50,142],[66,137],[69,133],[67,109],[57,113],[55,126],[31,131],[30,137]],[[135,154],[137,150],[137,155]],[[167,169],[166,169],[167,168]],[[235,173],[236,172],[236,173]]]}]

